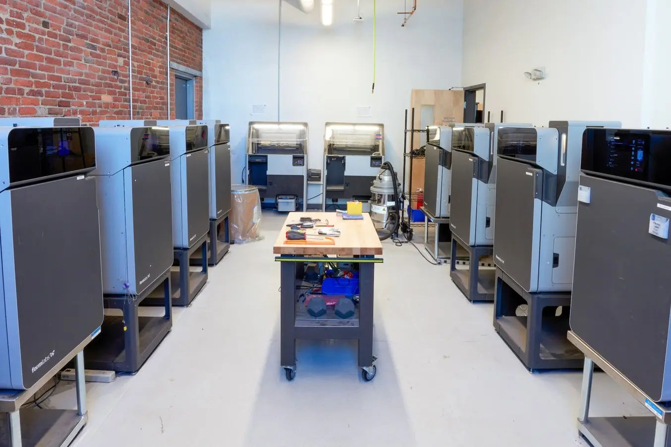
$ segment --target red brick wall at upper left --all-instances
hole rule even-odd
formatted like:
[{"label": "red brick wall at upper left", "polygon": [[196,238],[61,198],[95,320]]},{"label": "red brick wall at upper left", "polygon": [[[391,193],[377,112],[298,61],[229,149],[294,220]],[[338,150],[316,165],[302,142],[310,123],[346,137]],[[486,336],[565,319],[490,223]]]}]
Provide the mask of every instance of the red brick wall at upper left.
[{"label": "red brick wall at upper left", "polygon": [[[164,118],[167,6],[132,0],[131,13],[134,117]],[[201,29],[172,10],[170,34],[172,60],[202,70]],[[130,117],[127,1],[0,0],[0,45],[0,116]]]}]

